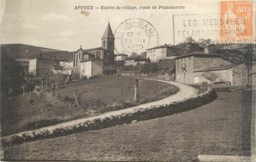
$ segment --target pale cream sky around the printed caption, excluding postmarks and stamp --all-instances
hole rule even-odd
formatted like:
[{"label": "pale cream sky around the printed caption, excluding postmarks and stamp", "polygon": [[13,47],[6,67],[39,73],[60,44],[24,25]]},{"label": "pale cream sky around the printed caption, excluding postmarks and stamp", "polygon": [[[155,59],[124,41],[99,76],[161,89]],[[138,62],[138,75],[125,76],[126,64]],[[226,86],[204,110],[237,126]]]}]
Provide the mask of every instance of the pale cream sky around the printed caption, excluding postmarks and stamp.
[{"label": "pale cream sky around the printed caption, excluding postmarks and stamp", "polygon": [[[159,45],[173,44],[173,15],[217,14],[218,1],[69,1],[0,0],[1,44],[30,44],[64,51],[101,46],[107,23],[112,31],[128,18],[150,22],[159,35]],[[176,10],[81,10],[75,6],[184,6]],[[89,15],[88,15],[89,14]],[[198,16],[200,17],[200,15]],[[197,17],[197,18],[198,18]]]}]

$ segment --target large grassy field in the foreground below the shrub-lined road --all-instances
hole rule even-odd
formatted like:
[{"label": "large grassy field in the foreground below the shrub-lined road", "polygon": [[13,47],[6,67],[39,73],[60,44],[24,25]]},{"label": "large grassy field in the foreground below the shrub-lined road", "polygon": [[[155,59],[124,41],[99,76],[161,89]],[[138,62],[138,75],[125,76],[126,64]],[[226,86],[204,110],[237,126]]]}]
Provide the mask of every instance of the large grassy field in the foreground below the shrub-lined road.
[{"label": "large grassy field in the foreground below the shrub-lined road", "polygon": [[208,105],[163,118],[4,148],[6,160],[196,161],[250,155],[251,91],[218,92]]}]

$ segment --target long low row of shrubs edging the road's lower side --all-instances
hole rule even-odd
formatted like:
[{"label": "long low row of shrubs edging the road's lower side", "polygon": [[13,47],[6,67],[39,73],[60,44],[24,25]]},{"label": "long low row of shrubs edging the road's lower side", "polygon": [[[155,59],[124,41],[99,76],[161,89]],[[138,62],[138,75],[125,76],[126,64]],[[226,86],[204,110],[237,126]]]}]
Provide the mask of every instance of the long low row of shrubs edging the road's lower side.
[{"label": "long low row of shrubs edging the road's lower side", "polygon": [[159,118],[162,116],[171,115],[174,113],[180,113],[182,111],[191,110],[192,108],[197,108],[206,103],[210,103],[217,98],[217,94],[212,89],[196,95],[190,99],[179,100],[178,102],[172,102],[168,105],[160,105],[157,107],[149,108],[136,108],[134,110],[128,111],[126,113],[121,113],[118,115],[109,116],[94,116],[90,119],[85,119],[84,121],[70,126],[60,126],[58,128],[52,129],[42,128],[35,131],[27,131],[20,134],[11,135],[8,137],[3,137],[1,139],[2,145],[12,145],[20,144],[25,141],[36,140],[36,139],[46,139],[57,136],[64,136],[66,134],[71,134],[73,132],[89,131],[93,129],[108,128],[110,126],[115,126],[117,124],[131,123],[133,120],[142,121],[146,119]]}]

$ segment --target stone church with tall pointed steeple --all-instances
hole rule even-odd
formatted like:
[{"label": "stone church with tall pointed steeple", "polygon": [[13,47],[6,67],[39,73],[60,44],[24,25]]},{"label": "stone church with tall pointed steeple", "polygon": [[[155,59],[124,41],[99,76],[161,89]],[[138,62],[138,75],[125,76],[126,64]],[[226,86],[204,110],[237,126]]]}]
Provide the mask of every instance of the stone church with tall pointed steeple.
[{"label": "stone church with tall pointed steeple", "polygon": [[82,49],[80,46],[80,49],[74,52],[73,66],[80,67],[81,61],[94,58],[103,60],[104,65],[111,65],[114,63],[114,47],[114,34],[108,24],[101,38],[101,47]]}]

